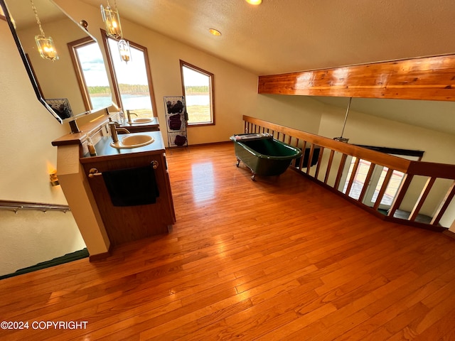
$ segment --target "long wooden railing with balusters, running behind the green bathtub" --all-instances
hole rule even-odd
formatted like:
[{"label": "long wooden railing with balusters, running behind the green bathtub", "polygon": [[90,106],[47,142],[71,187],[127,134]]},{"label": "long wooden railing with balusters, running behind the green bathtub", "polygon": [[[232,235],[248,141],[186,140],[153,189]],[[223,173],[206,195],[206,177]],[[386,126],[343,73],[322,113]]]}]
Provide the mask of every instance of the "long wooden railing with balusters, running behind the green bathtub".
[{"label": "long wooden railing with balusters, running behind the green bathtub", "polygon": [[[253,117],[244,116],[243,121],[245,132],[247,133],[270,133],[273,134],[274,139],[283,141],[291,146],[299,147],[302,151],[307,151],[306,160],[302,157],[297,162],[293,161],[291,168],[332,190],[334,193],[342,195],[355,205],[368,210],[368,212],[382,217],[384,220],[402,224],[410,224],[436,231],[444,231],[446,229],[441,227],[439,222],[455,195],[455,165],[410,161],[405,158],[346,144]],[[317,156],[316,162],[314,156],[316,156],[315,151],[318,148],[319,156]],[[346,166],[348,158],[352,158],[350,167]],[[314,161],[313,164],[316,164],[311,166],[311,161]],[[358,197],[350,196],[350,190],[355,182],[355,174],[358,171],[360,162],[363,161],[368,161],[367,164],[369,163],[368,173],[365,175],[363,182],[360,183],[361,189],[358,191],[360,192],[358,193]],[[376,167],[381,166],[384,167],[383,169],[387,169],[387,171],[380,186],[379,193],[375,198],[373,206],[365,205],[363,199],[365,193],[367,193],[373,171],[375,171]],[[349,168],[350,176],[348,176],[348,172],[346,171]],[[394,195],[390,209],[381,213],[380,203],[386,193],[394,171],[404,173],[403,179]],[[413,183],[413,180],[416,179],[418,180]],[[423,188],[420,192],[417,190],[416,193],[415,188],[419,186],[419,183],[422,183],[422,180],[424,180]],[[420,211],[437,180],[444,182],[442,186],[438,186],[439,188],[443,188],[443,193],[441,193],[441,190],[437,191],[437,207],[434,207],[434,212],[429,221],[422,222],[422,220],[417,218],[421,216]],[[359,185],[359,183],[356,183],[356,185]],[[412,190],[410,190],[411,187],[413,188]],[[434,193],[432,193],[432,197],[434,197]],[[397,212],[403,211],[400,210],[400,207],[403,205],[405,198],[407,205],[409,205],[409,202],[412,202],[412,209],[405,211],[409,216],[403,219],[402,217],[398,217],[400,215],[397,215]]]}]

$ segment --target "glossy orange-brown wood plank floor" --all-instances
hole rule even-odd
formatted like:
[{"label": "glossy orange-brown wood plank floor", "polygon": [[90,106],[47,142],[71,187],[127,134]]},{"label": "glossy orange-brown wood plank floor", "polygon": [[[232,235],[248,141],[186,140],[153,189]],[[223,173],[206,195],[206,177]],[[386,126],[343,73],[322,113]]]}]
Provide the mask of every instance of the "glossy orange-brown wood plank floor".
[{"label": "glossy orange-brown wood plank floor", "polygon": [[[0,281],[1,340],[455,340],[455,240],[231,144],[168,152],[173,232]],[[85,329],[33,329],[86,321]]]}]

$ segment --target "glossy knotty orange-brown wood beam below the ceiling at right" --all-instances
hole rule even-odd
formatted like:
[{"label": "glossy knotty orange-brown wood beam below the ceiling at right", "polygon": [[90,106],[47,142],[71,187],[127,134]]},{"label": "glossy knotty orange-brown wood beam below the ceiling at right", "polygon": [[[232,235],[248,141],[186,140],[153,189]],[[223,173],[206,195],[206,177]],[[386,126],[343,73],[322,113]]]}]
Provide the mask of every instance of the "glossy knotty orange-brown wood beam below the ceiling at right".
[{"label": "glossy knotty orange-brown wood beam below the ceiling at right", "polygon": [[258,93],[455,101],[455,55],[264,75]]}]

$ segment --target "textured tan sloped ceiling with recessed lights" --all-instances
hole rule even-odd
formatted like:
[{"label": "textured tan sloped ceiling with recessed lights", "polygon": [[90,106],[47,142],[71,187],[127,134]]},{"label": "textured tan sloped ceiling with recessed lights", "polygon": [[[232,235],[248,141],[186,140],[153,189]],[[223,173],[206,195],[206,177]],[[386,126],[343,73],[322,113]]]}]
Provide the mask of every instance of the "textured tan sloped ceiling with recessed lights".
[{"label": "textured tan sloped ceiling with recessed lights", "polygon": [[455,52],[453,0],[117,0],[117,7],[257,75]]}]

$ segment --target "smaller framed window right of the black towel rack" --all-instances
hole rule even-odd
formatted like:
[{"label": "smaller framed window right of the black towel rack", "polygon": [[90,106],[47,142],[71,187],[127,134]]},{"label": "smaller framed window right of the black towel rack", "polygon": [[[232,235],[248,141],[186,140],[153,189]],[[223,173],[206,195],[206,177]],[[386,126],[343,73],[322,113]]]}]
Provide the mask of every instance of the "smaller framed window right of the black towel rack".
[{"label": "smaller framed window right of the black towel rack", "polygon": [[213,74],[180,61],[188,126],[215,124]]}]

